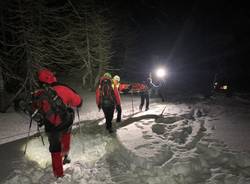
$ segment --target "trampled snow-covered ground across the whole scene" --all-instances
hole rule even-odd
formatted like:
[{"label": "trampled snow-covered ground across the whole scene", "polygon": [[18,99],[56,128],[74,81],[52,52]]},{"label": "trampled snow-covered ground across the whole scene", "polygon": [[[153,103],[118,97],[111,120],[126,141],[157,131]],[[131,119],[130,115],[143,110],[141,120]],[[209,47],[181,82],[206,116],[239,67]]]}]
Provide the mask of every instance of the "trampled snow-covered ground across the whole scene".
[{"label": "trampled snow-covered ground across the whole scene", "polygon": [[[25,156],[25,140],[0,146],[0,165],[5,168],[1,167],[1,183],[250,184],[248,101],[154,99],[149,111],[139,112],[139,98],[134,96],[132,114],[131,96],[122,96],[123,121],[114,123],[116,132],[108,134],[94,94],[81,93],[82,131],[74,131],[72,163],[64,166],[65,176],[52,176],[48,142],[45,139],[44,147],[40,137],[34,137]],[[1,124],[10,123],[10,114],[13,121],[23,118],[14,112],[1,114]],[[77,127],[77,119],[75,123]],[[22,125],[25,128],[6,125],[1,136],[27,132],[28,122]]]}]

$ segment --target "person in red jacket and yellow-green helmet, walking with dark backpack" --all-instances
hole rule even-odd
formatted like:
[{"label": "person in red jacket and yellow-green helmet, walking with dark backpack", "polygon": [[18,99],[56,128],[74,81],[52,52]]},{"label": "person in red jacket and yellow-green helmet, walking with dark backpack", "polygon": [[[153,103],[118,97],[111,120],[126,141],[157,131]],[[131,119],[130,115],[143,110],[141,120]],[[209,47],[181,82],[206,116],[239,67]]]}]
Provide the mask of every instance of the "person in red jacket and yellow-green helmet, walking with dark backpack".
[{"label": "person in red jacket and yellow-green helmet, walking with dark backpack", "polygon": [[115,106],[120,106],[119,91],[116,86],[112,88],[112,76],[110,73],[105,73],[99,81],[96,89],[96,104],[103,110],[106,119],[106,129],[109,133],[113,132],[112,120],[114,116]]}]

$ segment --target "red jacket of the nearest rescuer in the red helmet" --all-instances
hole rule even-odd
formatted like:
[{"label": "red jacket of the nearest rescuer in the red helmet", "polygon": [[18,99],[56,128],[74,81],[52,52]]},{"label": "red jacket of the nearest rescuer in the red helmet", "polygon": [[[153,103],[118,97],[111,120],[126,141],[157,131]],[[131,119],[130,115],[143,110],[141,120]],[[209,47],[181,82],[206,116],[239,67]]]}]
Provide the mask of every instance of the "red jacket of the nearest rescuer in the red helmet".
[{"label": "red jacket of the nearest rescuer in the red helmet", "polygon": [[[69,107],[77,107],[82,104],[81,97],[75,93],[73,90],[68,88],[64,85],[55,85],[52,87],[53,90],[57,93],[57,96],[59,96],[62,99],[62,102]],[[44,89],[38,90],[35,92],[34,96],[41,96],[45,93]],[[46,98],[41,98],[41,100],[35,101],[33,103],[33,108],[38,108],[42,112],[46,114],[46,119],[53,125],[57,126],[60,123],[62,123],[62,120],[60,118],[59,114],[51,113],[51,105]]]}]

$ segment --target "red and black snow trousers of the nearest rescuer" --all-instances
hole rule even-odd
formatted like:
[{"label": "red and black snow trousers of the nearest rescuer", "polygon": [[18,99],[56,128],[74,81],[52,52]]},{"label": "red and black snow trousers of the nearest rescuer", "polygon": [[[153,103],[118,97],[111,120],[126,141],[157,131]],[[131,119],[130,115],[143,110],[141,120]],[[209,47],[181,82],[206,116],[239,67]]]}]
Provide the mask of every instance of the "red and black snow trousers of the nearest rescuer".
[{"label": "red and black snow trousers of the nearest rescuer", "polygon": [[71,132],[49,132],[49,151],[51,152],[52,169],[55,177],[63,176],[63,159],[70,149]]}]

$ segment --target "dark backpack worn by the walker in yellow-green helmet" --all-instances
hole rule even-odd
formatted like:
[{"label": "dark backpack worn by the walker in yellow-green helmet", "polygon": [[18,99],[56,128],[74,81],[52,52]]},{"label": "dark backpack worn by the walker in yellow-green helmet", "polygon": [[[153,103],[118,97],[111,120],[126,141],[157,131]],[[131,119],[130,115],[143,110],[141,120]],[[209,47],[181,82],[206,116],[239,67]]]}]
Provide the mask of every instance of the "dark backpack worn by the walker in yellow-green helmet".
[{"label": "dark backpack worn by the walker in yellow-green helmet", "polygon": [[110,107],[115,104],[115,94],[110,79],[103,79],[100,84],[100,98],[102,107]]}]

